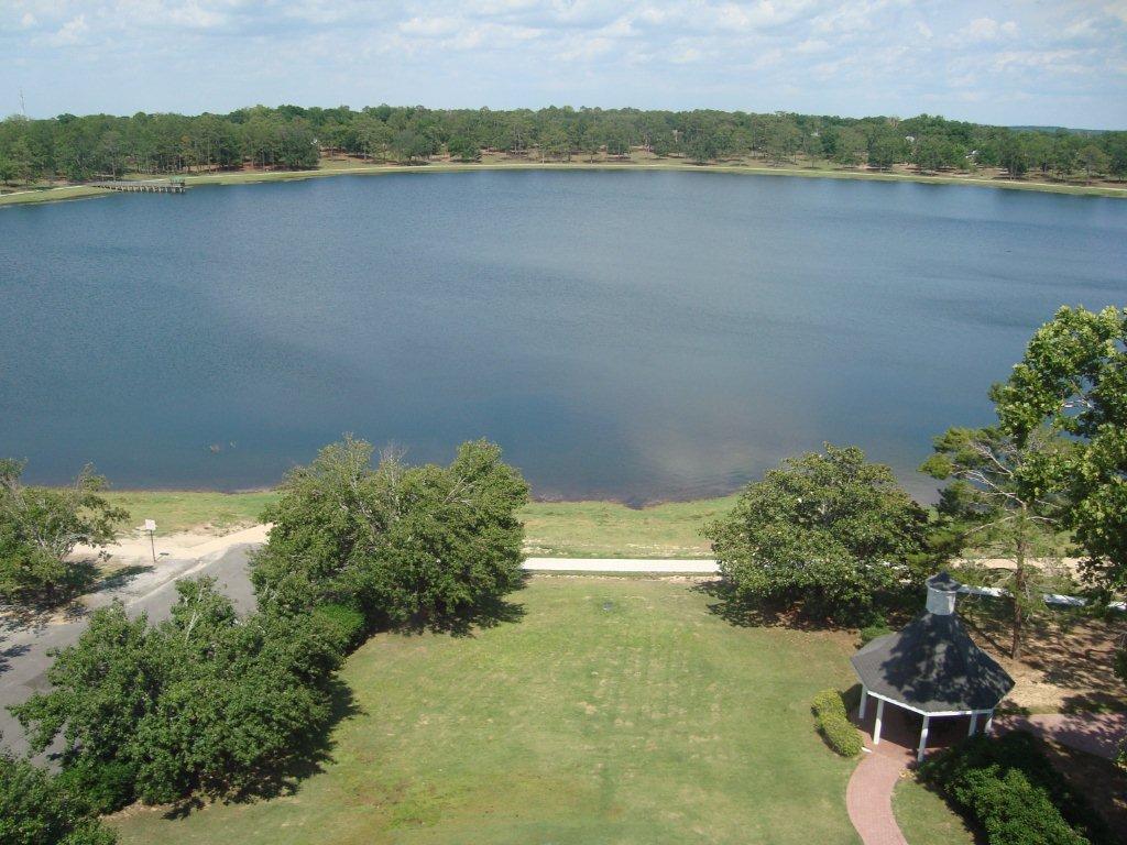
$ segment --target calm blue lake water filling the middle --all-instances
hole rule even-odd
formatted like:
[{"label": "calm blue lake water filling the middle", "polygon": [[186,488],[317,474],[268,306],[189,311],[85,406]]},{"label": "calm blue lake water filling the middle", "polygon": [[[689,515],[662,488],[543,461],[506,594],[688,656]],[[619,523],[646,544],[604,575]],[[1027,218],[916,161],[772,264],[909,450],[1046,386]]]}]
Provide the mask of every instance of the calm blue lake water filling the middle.
[{"label": "calm blue lake water filling the middle", "polygon": [[1127,202],[683,172],[340,177],[0,210],[0,455],[272,484],[353,432],[487,436],[545,497],[726,492],[823,441],[908,488]]}]

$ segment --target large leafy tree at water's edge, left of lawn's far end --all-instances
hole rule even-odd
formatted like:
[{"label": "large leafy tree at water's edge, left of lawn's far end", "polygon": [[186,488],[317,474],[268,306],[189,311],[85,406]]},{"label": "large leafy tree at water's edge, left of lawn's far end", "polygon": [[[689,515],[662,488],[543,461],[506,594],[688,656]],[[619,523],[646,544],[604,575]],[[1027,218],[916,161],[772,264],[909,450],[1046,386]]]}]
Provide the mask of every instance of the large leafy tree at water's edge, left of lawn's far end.
[{"label": "large leafy tree at water's edge, left of lawn's far end", "polygon": [[463,444],[449,466],[408,466],[346,438],[293,470],[252,563],[259,601],[337,601],[373,622],[435,620],[514,589],[527,484],[500,450]]}]

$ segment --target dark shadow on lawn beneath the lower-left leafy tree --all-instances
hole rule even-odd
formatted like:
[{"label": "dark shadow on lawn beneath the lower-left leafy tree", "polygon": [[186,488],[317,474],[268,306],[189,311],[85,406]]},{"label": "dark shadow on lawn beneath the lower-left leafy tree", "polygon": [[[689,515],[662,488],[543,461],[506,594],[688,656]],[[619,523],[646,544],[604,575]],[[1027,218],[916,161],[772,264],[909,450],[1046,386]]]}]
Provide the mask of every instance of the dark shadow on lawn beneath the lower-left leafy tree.
[{"label": "dark shadow on lawn beneath the lower-left leafy tree", "polygon": [[[265,768],[243,786],[219,798],[223,803],[254,803],[274,798],[292,795],[302,782],[320,774],[335,762],[336,739],[334,731],[341,721],[364,711],[356,704],[352,687],[340,678],[329,683],[329,718],[316,733],[307,737],[290,758],[276,768]],[[193,794],[171,804],[163,813],[167,819],[181,819],[207,804],[207,797]]]}]

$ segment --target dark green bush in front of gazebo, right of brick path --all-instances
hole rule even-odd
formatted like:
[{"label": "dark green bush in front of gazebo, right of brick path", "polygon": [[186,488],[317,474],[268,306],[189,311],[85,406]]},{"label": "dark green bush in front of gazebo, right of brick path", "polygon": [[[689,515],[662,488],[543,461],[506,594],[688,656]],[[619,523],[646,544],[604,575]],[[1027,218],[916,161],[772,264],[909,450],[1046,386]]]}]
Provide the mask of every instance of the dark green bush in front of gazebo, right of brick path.
[{"label": "dark green bush in front of gazebo, right of brick path", "polygon": [[920,770],[986,830],[990,845],[1110,845],[1107,824],[1073,790],[1032,736],[974,737]]}]

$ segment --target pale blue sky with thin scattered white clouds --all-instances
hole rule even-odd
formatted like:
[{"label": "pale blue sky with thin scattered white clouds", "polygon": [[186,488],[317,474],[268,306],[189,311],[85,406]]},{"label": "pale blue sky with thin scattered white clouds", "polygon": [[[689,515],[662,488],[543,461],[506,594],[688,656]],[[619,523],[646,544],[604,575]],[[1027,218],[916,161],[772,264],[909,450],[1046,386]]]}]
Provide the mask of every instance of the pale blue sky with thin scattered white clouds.
[{"label": "pale blue sky with thin scattered white clouds", "polygon": [[0,0],[0,114],[710,107],[1127,128],[1127,0]]}]

